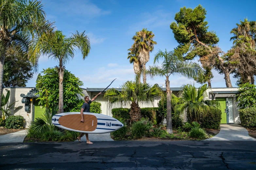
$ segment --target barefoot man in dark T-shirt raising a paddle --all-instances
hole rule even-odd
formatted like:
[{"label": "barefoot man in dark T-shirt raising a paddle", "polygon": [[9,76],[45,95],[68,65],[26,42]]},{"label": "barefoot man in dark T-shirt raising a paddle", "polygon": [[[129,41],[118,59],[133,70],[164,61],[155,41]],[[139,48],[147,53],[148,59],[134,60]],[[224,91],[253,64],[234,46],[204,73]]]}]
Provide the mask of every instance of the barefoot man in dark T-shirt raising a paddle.
[{"label": "barefoot man in dark T-shirt raising a paddle", "polygon": [[[102,92],[99,92],[99,94],[97,94],[92,100],[90,100],[89,96],[84,96],[84,104],[82,105],[82,108],[81,108],[81,122],[84,122],[84,114],[83,112],[90,112],[90,104],[101,94]],[[85,133],[81,133],[77,139],[79,142],[81,142],[81,137],[84,135]],[[88,134],[86,133],[85,134],[86,136],[86,143],[88,144],[93,144],[93,142],[91,142],[89,140],[89,137],[88,137]]]}]

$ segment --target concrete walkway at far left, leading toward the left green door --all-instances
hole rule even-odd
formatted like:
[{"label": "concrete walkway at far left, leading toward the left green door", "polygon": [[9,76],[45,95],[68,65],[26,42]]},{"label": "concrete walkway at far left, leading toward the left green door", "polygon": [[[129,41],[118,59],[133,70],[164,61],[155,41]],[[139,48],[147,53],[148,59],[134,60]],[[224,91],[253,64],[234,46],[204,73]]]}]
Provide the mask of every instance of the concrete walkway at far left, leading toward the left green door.
[{"label": "concrete walkway at far left, leading toward the left green door", "polygon": [[26,130],[14,132],[11,134],[0,135],[0,143],[17,143],[23,142],[26,137]]}]

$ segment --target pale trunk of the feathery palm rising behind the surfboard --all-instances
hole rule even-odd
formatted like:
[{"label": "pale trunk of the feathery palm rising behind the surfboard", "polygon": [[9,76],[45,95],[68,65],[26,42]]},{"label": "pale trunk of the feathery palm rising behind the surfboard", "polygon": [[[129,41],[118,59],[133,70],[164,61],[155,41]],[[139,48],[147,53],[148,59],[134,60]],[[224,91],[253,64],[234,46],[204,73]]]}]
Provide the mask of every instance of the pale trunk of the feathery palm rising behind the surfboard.
[{"label": "pale trunk of the feathery palm rising behind the surfboard", "polygon": [[59,73],[59,113],[64,112],[63,108],[63,76],[64,76],[64,70],[65,67],[62,67],[62,64],[60,64],[60,67],[58,68]]}]

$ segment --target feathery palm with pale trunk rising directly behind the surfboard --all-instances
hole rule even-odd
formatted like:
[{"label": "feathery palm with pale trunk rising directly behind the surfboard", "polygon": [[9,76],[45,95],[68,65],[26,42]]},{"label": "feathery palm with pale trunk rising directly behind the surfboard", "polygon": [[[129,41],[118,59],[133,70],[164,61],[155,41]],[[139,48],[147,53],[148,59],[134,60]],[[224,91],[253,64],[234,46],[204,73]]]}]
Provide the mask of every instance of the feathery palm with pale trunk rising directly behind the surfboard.
[{"label": "feathery palm with pale trunk rising directly behind the surfboard", "polygon": [[[85,32],[85,31],[84,31]],[[82,33],[75,33],[71,37],[66,37],[61,31],[55,31],[50,34],[43,34],[35,37],[32,40],[32,51],[29,60],[34,66],[38,64],[40,55],[47,55],[49,58],[59,62],[56,66],[59,74],[59,113],[63,113],[63,75],[65,64],[74,58],[75,47],[81,50],[83,59],[85,59],[90,52],[90,40],[87,35]]]}]

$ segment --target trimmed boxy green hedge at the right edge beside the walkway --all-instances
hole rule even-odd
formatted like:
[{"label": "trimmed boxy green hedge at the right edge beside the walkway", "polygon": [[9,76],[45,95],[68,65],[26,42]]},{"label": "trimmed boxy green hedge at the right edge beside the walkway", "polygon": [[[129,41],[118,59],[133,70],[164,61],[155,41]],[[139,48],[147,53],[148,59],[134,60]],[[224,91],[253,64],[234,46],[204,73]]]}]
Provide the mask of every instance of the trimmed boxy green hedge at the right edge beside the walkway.
[{"label": "trimmed boxy green hedge at the right edge beside the walkway", "polygon": [[245,128],[256,127],[256,107],[239,109],[238,111],[242,126]]}]

